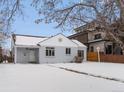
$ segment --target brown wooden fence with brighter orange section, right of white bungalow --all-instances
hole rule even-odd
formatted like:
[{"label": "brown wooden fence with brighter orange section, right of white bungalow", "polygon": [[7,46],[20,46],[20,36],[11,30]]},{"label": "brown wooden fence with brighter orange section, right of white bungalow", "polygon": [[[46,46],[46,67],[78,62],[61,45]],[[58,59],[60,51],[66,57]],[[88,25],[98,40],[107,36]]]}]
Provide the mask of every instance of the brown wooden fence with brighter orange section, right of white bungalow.
[{"label": "brown wooden fence with brighter orange section, right of white bungalow", "polygon": [[[88,61],[98,61],[98,55],[95,52],[88,53]],[[124,55],[106,55],[101,53],[100,60],[102,62],[124,63]]]}]

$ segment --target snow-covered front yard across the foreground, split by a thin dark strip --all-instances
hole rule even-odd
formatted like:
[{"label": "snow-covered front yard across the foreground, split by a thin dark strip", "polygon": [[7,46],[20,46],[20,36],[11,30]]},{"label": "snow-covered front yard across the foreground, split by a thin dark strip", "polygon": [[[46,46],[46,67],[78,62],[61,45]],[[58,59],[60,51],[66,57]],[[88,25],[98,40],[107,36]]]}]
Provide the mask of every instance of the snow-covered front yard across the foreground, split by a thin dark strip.
[{"label": "snow-covered front yard across the foreground, split by a thin dark strip", "polygon": [[0,91],[124,91],[124,83],[60,69],[124,78],[124,64],[0,64]]}]

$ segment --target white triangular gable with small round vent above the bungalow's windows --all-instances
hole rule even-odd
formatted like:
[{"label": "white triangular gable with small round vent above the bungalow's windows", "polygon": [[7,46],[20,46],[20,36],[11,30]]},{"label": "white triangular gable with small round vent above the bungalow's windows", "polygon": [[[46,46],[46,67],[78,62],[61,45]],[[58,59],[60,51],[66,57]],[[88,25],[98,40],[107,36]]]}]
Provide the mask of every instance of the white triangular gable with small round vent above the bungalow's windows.
[{"label": "white triangular gable with small round vent above the bungalow's windows", "polygon": [[[77,40],[72,41],[68,39],[63,34],[57,34],[51,38],[39,42],[41,46],[61,46],[61,47],[84,47],[83,44],[79,43]],[[85,46],[86,47],[86,46]]]}]

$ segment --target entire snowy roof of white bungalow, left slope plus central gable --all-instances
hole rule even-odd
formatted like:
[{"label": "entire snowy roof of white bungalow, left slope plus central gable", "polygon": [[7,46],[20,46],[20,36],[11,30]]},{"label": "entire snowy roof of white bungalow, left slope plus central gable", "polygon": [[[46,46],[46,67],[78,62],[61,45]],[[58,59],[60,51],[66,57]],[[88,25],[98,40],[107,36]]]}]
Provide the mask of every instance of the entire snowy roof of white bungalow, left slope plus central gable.
[{"label": "entire snowy roof of white bungalow, left slope plus central gable", "polygon": [[61,47],[86,47],[77,40],[70,40],[63,34],[57,34],[55,36],[37,37],[29,35],[15,35],[15,45],[20,46],[61,46]]}]

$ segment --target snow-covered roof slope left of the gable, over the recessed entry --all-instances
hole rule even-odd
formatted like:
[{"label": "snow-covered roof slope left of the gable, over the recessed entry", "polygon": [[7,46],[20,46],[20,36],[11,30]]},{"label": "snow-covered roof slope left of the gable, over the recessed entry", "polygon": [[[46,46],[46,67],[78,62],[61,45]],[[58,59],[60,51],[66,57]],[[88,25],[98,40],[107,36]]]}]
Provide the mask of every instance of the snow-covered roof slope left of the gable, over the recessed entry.
[{"label": "snow-covered roof slope left of the gable, over the recessed entry", "polygon": [[37,45],[38,42],[47,39],[40,36],[16,35],[16,45]]}]

